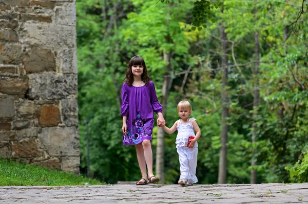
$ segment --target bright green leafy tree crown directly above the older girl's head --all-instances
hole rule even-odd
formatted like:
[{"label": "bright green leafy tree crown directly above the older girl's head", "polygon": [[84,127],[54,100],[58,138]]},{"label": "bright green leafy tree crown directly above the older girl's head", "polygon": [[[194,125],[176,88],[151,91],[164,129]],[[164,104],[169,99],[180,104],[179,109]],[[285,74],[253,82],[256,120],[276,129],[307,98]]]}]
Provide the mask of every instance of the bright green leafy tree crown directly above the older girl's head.
[{"label": "bright green leafy tree crown directly above the older girl's head", "polygon": [[[132,2],[139,5],[139,1]],[[189,44],[180,23],[185,20],[190,3],[189,0],[166,7],[148,1],[140,5],[139,13],[127,15],[128,19],[123,25],[125,29],[122,30],[125,43],[129,44],[127,49],[144,58],[151,78],[162,80],[159,76],[165,73],[165,66],[168,65],[163,59],[164,52],[179,56],[172,59],[172,70],[179,69],[178,63],[185,63],[185,58],[181,56],[187,54]]]}]

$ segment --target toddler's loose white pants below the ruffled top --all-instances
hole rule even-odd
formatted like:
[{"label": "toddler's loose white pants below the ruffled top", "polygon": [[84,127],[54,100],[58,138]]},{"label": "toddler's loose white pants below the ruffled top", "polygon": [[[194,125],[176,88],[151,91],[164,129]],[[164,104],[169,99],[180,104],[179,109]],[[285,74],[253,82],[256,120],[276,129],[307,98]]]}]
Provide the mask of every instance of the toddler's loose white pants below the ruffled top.
[{"label": "toddler's loose white pants below the ruffled top", "polygon": [[197,156],[198,147],[188,148],[188,147],[178,147],[177,152],[179,154],[180,161],[180,179],[187,179],[189,183],[197,183],[198,179],[196,176],[197,168]]}]

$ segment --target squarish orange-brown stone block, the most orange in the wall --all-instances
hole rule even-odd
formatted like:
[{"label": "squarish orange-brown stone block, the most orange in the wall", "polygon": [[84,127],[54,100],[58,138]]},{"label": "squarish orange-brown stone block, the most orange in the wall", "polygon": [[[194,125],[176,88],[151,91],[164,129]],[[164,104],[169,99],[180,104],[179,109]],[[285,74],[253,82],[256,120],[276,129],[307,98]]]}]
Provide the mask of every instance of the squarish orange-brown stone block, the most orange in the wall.
[{"label": "squarish orange-brown stone block, the most orange in the wall", "polygon": [[53,105],[45,105],[40,107],[38,113],[38,123],[41,127],[57,126],[61,121],[60,110]]}]

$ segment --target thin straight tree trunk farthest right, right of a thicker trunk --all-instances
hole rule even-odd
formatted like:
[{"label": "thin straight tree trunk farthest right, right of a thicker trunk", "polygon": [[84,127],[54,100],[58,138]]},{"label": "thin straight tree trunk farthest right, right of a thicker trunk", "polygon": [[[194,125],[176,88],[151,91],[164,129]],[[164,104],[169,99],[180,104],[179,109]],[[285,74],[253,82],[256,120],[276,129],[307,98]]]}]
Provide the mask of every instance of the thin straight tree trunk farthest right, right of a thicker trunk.
[{"label": "thin straight tree trunk farthest right, right of a thicker trunk", "polygon": [[[255,7],[255,14],[257,14],[258,8]],[[257,116],[258,116],[258,109],[259,109],[259,33],[256,31],[255,32],[255,71],[254,71],[254,79],[255,79],[255,84],[254,84],[254,106],[253,106],[253,125],[252,125],[252,145],[253,145],[253,156],[252,156],[252,171],[251,171],[251,184],[256,184],[257,183],[257,170],[254,169],[255,166],[257,166],[257,158],[255,154],[257,152],[256,149],[254,148],[256,146],[257,142]]]}]

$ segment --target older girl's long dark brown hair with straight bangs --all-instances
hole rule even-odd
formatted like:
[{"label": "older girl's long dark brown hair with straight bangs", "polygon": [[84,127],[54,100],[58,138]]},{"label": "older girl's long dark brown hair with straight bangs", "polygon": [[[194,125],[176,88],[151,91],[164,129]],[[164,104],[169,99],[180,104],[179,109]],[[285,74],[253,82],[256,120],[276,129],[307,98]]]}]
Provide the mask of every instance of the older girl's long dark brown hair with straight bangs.
[{"label": "older girl's long dark brown hair with straight bangs", "polygon": [[141,75],[141,80],[146,84],[149,85],[150,77],[147,74],[146,65],[142,57],[134,56],[129,60],[127,70],[126,70],[126,76],[124,79],[124,83],[127,83],[129,86],[132,85],[133,82],[133,74],[131,72],[131,67],[133,65],[142,65],[143,66],[143,73]]}]

